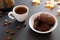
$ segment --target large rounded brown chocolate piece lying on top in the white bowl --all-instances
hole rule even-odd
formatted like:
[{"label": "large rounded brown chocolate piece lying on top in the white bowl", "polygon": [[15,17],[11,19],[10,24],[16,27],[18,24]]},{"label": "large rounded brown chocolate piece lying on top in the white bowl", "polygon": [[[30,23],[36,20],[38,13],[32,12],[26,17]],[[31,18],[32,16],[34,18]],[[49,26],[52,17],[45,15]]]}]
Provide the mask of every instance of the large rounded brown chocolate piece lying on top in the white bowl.
[{"label": "large rounded brown chocolate piece lying on top in the white bowl", "polygon": [[54,24],[55,23],[55,19],[53,18],[53,16],[51,16],[49,14],[45,14],[45,13],[40,14],[40,20],[47,23],[47,24]]}]

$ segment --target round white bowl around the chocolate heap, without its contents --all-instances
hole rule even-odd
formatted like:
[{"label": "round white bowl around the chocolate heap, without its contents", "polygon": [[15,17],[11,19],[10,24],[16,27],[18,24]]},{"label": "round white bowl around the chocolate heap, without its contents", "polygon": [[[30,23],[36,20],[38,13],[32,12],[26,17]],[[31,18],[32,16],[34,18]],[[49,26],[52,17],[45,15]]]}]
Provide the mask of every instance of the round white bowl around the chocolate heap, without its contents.
[{"label": "round white bowl around the chocolate heap, without its contents", "polygon": [[[41,13],[48,13],[49,15],[53,16],[54,19],[55,19],[55,24],[54,24],[54,26],[53,26],[50,30],[45,31],[45,32],[36,30],[36,29],[34,29],[34,26],[33,26],[33,25],[34,25],[34,19],[35,19],[37,16],[39,16]],[[51,13],[49,13],[49,12],[38,12],[38,13],[35,13],[35,14],[33,14],[33,15],[30,17],[30,19],[29,19],[29,26],[30,26],[30,28],[31,28],[33,31],[35,31],[35,32],[37,32],[37,33],[42,33],[42,34],[50,33],[50,32],[52,32],[52,31],[54,31],[54,30],[56,29],[56,27],[57,27],[57,24],[58,24],[57,18],[56,18],[53,14],[51,14]]]}]

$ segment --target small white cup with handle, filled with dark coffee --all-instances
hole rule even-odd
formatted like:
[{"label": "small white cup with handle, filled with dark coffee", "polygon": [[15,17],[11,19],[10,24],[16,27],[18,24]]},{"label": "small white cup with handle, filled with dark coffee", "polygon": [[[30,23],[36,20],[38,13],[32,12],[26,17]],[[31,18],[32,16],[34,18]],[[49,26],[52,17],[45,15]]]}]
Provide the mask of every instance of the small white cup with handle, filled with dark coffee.
[{"label": "small white cup with handle, filled with dark coffee", "polygon": [[[26,12],[24,12],[24,9],[22,9],[21,7],[25,8],[26,9]],[[21,8],[21,10],[20,9],[17,10],[18,8]],[[16,11],[18,11],[20,13],[17,13]],[[8,13],[8,16],[11,19],[16,19],[19,22],[23,22],[23,21],[26,20],[26,18],[28,16],[28,12],[29,12],[29,8],[27,6],[25,6],[25,5],[18,5],[18,6],[16,6],[16,7],[13,8],[13,11],[12,12],[9,12]]]}]

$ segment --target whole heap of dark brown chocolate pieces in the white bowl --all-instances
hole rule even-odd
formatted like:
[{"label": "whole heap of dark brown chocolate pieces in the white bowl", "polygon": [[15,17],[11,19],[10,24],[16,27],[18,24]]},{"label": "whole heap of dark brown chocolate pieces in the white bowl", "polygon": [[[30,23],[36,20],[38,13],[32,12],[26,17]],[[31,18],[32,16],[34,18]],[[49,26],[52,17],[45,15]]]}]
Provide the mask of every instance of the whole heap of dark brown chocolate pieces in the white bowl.
[{"label": "whole heap of dark brown chocolate pieces in the white bowl", "polygon": [[55,24],[55,19],[52,15],[41,13],[34,20],[34,28],[39,31],[48,31]]}]

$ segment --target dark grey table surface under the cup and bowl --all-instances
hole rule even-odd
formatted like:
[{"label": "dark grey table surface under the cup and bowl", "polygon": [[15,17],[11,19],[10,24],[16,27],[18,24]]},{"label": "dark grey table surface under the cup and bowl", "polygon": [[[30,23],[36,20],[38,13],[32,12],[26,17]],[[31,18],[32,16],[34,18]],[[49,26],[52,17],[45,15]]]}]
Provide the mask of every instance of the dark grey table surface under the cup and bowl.
[{"label": "dark grey table surface under the cup and bowl", "polygon": [[[10,29],[15,32],[15,35],[12,36],[12,40],[60,40],[60,17],[57,17],[56,8],[54,10],[48,10],[45,8],[45,1],[42,0],[41,5],[38,6],[32,6],[31,2],[32,0],[15,0],[15,6],[16,5],[26,5],[29,7],[29,15],[26,19],[26,27],[23,25],[23,23],[20,23],[16,20],[10,19],[7,15],[3,14],[2,17],[0,17],[0,40],[6,40],[6,38],[9,36],[9,34],[6,33],[7,29]],[[36,12],[50,12],[53,15],[55,15],[58,19],[58,26],[57,28],[50,34],[38,34],[32,31],[29,27],[28,21],[29,18],[35,14]],[[5,19],[8,19],[8,21],[12,21],[11,25],[8,25],[6,27],[3,26],[3,21]],[[21,26],[20,30],[16,29],[16,26]]]}]

